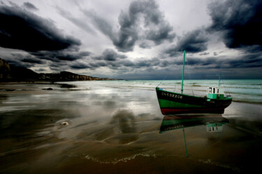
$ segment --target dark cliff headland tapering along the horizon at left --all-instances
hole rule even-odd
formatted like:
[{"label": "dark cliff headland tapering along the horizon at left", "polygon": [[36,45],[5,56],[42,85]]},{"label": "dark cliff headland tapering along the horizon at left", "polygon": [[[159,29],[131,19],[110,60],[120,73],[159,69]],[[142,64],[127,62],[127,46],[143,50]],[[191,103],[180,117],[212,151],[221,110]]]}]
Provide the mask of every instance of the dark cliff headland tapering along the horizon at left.
[{"label": "dark cliff headland tapering along the horizon at left", "polygon": [[0,58],[0,81],[93,81],[93,80],[117,80],[99,77],[90,77],[72,72],[41,73],[38,74],[27,68],[9,65]]}]

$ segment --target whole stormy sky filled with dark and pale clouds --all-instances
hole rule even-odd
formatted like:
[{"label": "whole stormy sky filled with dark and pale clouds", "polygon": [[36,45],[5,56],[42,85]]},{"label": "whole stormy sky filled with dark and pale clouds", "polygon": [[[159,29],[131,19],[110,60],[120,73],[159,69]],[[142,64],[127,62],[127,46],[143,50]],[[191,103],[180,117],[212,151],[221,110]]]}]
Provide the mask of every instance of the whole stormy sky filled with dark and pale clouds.
[{"label": "whole stormy sky filled with dark and pale clouds", "polygon": [[262,79],[259,0],[0,0],[0,58],[38,73]]}]

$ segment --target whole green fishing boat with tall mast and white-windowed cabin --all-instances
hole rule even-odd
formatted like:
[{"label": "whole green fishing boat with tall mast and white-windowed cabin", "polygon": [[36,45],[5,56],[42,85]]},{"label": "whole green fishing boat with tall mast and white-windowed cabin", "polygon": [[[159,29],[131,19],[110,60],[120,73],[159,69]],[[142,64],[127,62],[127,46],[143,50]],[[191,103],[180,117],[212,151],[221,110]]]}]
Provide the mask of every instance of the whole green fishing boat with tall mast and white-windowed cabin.
[{"label": "whole green fishing boat with tall mast and white-windowed cabin", "polygon": [[[186,51],[184,50],[184,60]],[[204,97],[183,94],[184,61],[182,71],[181,93],[170,92],[157,87],[157,98],[163,115],[180,113],[224,113],[224,109],[232,102],[232,98],[224,95],[224,88],[220,86],[208,87],[208,94]]]}]

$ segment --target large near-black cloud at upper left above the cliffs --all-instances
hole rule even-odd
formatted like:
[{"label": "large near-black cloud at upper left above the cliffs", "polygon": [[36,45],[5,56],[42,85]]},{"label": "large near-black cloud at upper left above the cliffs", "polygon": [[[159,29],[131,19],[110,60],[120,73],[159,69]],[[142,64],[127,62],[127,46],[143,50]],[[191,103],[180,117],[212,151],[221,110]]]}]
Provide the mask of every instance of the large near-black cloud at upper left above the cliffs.
[{"label": "large near-black cloud at upper left above the cliffs", "polygon": [[18,6],[1,5],[0,47],[27,52],[55,51],[79,46],[80,40],[61,34],[48,19]]}]

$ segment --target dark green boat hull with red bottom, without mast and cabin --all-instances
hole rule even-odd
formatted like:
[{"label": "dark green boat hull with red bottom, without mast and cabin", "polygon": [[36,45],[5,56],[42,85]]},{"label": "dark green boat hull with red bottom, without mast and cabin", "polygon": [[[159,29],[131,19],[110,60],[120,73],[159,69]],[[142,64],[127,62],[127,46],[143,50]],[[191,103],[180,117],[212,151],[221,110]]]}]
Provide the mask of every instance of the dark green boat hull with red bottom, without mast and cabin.
[{"label": "dark green boat hull with red bottom, without mast and cabin", "polygon": [[157,88],[157,98],[163,115],[180,113],[224,113],[224,109],[232,102],[231,97],[208,99],[180,93],[172,93]]}]

